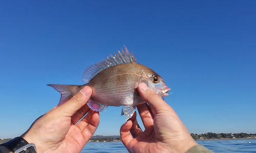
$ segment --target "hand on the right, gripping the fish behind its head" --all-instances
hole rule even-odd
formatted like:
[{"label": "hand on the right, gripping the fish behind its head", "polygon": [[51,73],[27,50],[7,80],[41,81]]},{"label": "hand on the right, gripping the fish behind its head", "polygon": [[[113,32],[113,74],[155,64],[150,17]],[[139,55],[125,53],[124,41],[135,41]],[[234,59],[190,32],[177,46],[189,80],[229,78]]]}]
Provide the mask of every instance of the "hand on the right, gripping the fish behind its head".
[{"label": "hand on the right, gripping the fish behind its head", "polygon": [[157,93],[144,83],[139,84],[138,91],[150,107],[146,103],[137,105],[144,132],[137,123],[136,112],[121,126],[121,140],[129,152],[186,152],[198,145],[173,108]]}]

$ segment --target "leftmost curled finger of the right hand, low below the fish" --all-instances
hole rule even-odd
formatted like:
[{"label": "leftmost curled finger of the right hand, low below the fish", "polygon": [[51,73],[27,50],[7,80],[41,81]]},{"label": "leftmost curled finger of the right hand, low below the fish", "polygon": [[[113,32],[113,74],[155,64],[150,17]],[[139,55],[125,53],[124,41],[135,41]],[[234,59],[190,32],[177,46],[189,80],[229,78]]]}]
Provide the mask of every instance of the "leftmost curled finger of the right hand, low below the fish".
[{"label": "leftmost curled finger of the right hand, low below the fish", "polygon": [[121,128],[120,128],[120,138],[123,143],[123,145],[127,148],[127,150],[130,152],[129,144],[132,142],[132,140],[136,141],[133,139],[133,136],[130,135],[130,129],[132,128],[132,121],[127,121],[124,123]]}]

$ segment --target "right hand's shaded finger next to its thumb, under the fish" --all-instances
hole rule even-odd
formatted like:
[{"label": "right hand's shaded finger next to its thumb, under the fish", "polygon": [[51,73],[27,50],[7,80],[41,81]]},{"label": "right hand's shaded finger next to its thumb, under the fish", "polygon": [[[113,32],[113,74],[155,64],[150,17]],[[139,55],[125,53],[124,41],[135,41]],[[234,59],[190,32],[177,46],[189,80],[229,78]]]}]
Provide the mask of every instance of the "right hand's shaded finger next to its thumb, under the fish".
[{"label": "right hand's shaded finger next to its thumb, under the fish", "polygon": [[150,110],[150,107],[147,105],[147,103],[137,105],[137,109],[145,128],[148,125],[154,124],[153,114]]}]

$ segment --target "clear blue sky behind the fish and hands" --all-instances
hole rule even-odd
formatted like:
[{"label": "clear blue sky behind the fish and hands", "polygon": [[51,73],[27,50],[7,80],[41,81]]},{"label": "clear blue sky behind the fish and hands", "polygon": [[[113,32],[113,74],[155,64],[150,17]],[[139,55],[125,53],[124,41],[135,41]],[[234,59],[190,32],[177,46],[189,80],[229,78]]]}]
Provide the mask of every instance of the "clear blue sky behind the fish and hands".
[{"label": "clear blue sky behind the fish and hands", "polygon": [[[46,84],[83,84],[125,45],[172,90],[190,133],[256,133],[256,1],[6,1],[0,5],[0,138],[58,104]],[[119,135],[121,107],[95,135]]]}]

